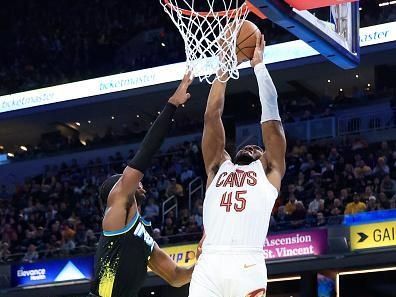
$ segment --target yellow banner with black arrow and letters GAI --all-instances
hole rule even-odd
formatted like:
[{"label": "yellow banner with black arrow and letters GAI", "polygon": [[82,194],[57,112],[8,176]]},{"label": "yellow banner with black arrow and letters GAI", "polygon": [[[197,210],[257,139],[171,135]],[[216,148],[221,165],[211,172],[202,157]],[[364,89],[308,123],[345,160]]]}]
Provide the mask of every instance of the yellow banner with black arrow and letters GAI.
[{"label": "yellow banner with black arrow and letters GAI", "polygon": [[351,250],[396,246],[396,220],[351,226]]}]

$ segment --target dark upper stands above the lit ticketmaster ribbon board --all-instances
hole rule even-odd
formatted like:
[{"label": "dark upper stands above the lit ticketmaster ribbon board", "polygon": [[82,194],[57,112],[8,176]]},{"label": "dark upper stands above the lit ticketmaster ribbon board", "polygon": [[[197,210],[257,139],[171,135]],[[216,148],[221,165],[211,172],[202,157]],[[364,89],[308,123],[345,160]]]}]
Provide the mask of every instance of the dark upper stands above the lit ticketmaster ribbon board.
[{"label": "dark upper stands above the lit ticketmaster ribbon board", "polygon": [[[362,0],[361,6],[362,26],[396,19],[396,5]],[[255,21],[267,44],[294,38],[268,21]],[[7,1],[0,24],[0,95],[185,59],[180,34],[159,3]]]}]

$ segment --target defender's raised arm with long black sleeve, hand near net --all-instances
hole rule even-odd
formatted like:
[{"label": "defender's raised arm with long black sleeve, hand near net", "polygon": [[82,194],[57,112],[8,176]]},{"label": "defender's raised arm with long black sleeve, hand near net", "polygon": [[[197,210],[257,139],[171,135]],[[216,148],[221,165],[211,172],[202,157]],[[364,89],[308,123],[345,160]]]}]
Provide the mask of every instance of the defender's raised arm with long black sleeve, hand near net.
[{"label": "defender's raised arm with long black sleeve, hand near net", "polygon": [[135,156],[128,160],[128,166],[109,193],[107,209],[103,219],[104,230],[118,230],[125,226],[126,215],[133,204],[135,199],[133,195],[139,188],[144,171],[150,165],[151,158],[161,147],[168,134],[177,107],[191,97],[187,93],[191,82],[190,73],[187,73],[147,132]]}]

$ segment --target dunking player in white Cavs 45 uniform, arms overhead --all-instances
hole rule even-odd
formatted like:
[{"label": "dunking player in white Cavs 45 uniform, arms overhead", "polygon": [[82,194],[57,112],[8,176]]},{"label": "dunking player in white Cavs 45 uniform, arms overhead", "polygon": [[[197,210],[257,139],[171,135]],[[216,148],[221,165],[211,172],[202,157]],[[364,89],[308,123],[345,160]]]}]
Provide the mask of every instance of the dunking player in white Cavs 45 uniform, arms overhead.
[{"label": "dunking player in white Cavs 45 uniform, arms overhead", "polygon": [[285,172],[286,139],[277,92],[263,63],[264,46],[264,36],[258,33],[251,65],[259,87],[265,151],[248,145],[231,161],[224,150],[221,120],[226,83],[217,80],[210,90],[202,139],[208,176],[203,211],[206,237],[189,297],[266,295],[263,246]]}]

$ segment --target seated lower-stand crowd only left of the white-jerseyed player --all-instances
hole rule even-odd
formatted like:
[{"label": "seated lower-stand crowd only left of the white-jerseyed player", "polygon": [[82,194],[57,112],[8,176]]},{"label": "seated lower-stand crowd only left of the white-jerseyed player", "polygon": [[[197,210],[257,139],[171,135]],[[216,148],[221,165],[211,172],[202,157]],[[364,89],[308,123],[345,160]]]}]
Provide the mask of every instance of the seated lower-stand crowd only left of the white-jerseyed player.
[{"label": "seated lower-stand crowd only left of the white-jerseyed player", "polygon": [[[200,155],[197,144],[186,142],[157,155],[145,173],[147,199],[141,213],[152,222],[154,237],[160,243],[172,242],[176,234],[202,231],[201,197],[194,198],[191,211],[187,209],[188,184],[203,174]],[[19,185],[12,195],[2,186],[0,261],[31,262],[93,252],[103,215],[97,189],[108,176],[122,172],[127,157],[117,153],[107,160],[96,159],[88,164],[73,160],[70,164],[46,166],[41,174]],[[179,216],[176,217],[176,211],[168,213],[163,225],[160,206],[171,196],[178,201]]]}]

